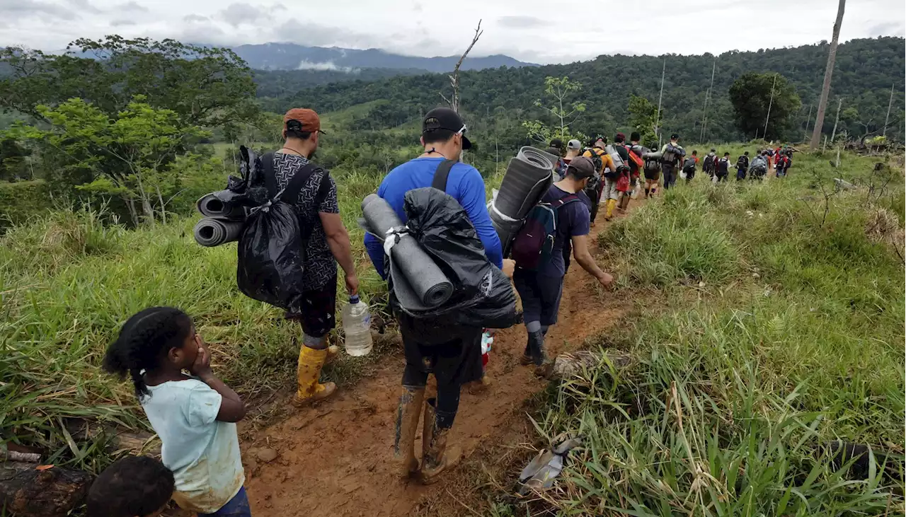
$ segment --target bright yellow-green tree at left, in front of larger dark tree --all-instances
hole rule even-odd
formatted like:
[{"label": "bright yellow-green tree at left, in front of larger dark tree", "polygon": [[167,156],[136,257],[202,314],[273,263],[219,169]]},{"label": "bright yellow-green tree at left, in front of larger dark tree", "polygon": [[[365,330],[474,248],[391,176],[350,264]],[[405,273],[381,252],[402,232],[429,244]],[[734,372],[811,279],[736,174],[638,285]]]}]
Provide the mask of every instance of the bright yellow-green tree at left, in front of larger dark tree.
[{"label": "bright yellow-green tree at left, in front of larger dark tree", "polygon": [[20,124],[11,136],[58,151],[57,169],[82,179],[80,190],[120,196],[135,225],[158,216],[166,220],[167,204],[179,187],[170,164],[188,141],[206,134],[140,96],[114,118],[81,99],[38,106],[37,112],[49,129]]}]

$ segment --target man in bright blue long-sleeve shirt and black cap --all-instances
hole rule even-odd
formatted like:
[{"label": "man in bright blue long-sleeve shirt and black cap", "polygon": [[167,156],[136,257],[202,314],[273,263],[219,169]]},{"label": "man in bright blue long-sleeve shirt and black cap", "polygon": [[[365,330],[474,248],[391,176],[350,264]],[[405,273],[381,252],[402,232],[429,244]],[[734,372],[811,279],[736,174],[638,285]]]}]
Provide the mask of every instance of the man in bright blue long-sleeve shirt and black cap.
[{"label": "man in bright blue long-sleeve shirt and black cap", "polygon": [[[466,138],[466,125],[458,113],[448,108],[431,110],[422,121],[421,144],[425,152],[390,171],[381,182],[378,196],[385,199],[400,216],[406,193],[415,188],[431,187],[434,174],[447,160],[458,160],[464,149],[472,147]],[[446,192],[466,210],[472,225],[485,246],[491,263],[504,269],[502,246],[490,215],[487,214],[485,182],[477,169],[464,163],[450,168]],[[384,273],[384,250],[373,235],[365,235],[365,246],[374,267]],[[507,261],[511,263],[512,261]],[[439,474],[458,463],[459,452],[447,451],[447,437],[459,407],[463,384],[483,375],[480,328],[451,328],[443,321],[415,320],[397,314],[400,322],[406,369],[402,376],[402,396],[396,417],[394,456],[400,461],[401,474],[415,475],[422,483],[434,483]],[[415,433],[429,374],[438,382],[438,397],[425,406],[421,465],[415,458]]]}]

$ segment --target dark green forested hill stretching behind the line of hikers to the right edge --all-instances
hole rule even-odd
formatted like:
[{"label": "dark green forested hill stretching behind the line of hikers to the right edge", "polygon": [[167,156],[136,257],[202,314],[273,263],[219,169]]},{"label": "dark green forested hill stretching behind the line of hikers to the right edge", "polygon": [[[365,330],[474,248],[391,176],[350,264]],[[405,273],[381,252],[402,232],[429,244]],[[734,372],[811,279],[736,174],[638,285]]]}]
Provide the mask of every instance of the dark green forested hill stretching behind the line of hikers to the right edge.
[{"label": "dark green forested hill stretching behind the line of hikers to the right edge", "polygon": [[[810,106],[816,105],[824,78],[828,43],[758,52],[728,52],[717,56],[717,74],[709,109],[706,139],[732,140],[741,135],[733,125],[728,89],[745,72],[779,72],[786,76],[802,99],[797,120],[804,130]],[[647,97],[657,103],[660,91],[661,67],[666,59],[664,84],[664,130],[678,131],[687,139],[698,139],[705,96],[711,79],[715,56],[625,56],[602,55],[591,62],[574,62],[541,67],[500,68],[461,75],[461,106],[468,119],[496,118],[516,120],[542,118],[535,108],[543,96],[546,76],[569,76],[580,81],[583,90],[577,99],[585,101],[587,111],[574,129],[586,134],[612,133],[624,129],[628,120],[627,104],[631,94]],[[890,99],[891,86],[898,91],[894,98],[892,129],[894,137],[901,131],[906,95],[906,39],[881,37],[853,40],[840,45],[832,103],[843,97],[843,108],[849,111],[844,124],[851,134],[861,136],[883,126]],[[275,93],[273,88],[263,91]],[[367,101],[388,100],[381,117],[388,126],[400,120],[418,117],[441,102],[440,93],[449,96],[447,74],[423,74],[393,77],[381,81],[352,81],[332,83],[302,91],[287,91],[282,96],[263,100],[270,110],[282,111],[292,106],[310,106],[316,110],[333,111]],[[389,109],[390,108],[390,109]],[[825,130],[834,126],[834,109],[827,110]],[[812,115],[814,117],[814,113]],[[514,129],[519,130],[519,129]],[[790,131],[789,139],[799,139],[802,133]]]}]

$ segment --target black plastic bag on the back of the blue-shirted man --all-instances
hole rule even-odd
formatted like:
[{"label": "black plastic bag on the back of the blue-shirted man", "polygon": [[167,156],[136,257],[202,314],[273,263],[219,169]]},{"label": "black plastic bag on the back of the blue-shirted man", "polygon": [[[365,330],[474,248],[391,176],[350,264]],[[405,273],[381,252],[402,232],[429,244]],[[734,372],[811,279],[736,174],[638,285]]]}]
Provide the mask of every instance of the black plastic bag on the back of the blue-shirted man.
[{"label": "black plastic bag on the back of the blue-shirted man", "polygon": [[417,188],[406,193],[403,210],[410,235],[447,275],[454,293],[428,311],[405,311],[391,296],[395,311],[430,320],[420,326],[438,332],[456,325],[506,329],[522,320],[512,284],[487,260],[475,226],[456,199],[436,188]]}]

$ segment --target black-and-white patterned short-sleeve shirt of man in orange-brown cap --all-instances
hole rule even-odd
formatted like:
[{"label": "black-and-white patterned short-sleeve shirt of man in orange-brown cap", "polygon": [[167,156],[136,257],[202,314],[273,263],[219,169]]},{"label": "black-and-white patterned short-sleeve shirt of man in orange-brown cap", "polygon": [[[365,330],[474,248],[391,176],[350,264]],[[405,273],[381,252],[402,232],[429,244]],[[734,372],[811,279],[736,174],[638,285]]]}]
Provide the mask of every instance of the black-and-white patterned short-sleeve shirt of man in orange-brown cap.
[{"label": "black-and-white patterned short-sleeve shirt of man in orange-brown cap", "polygon": [[[285,188],[295,174],[307,163],[307,158],[275,152],[274,172],[277,188]],[[321,203],[315,206],[315,197],[325,177],[330,182],[330,188]],[[321,218],[318,216],[319,212],[324,212],[325,214],[340,213],[340,206],[337,203],[337,186],[333,182],[333,177],[328,176],[326,171],[319,171],[308,178],[308,181],[305,182],[299,192],[299,201],[296,203],[296,208],[299,212],[300,224],[304,227],[312,228],[312,235],[309,237],[308,245],[305,248],[305,289],[321,289],[328,282],[335,282],[334,278],[337,273],[337,263],[333,258],[330,246],[327,245],[327,235],[324,234],[324,227],[321,225]]]}]

